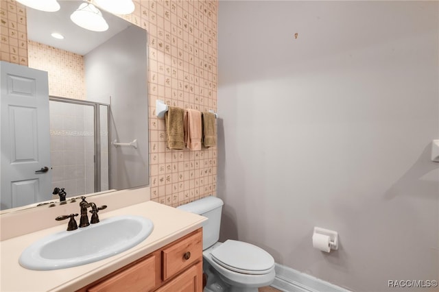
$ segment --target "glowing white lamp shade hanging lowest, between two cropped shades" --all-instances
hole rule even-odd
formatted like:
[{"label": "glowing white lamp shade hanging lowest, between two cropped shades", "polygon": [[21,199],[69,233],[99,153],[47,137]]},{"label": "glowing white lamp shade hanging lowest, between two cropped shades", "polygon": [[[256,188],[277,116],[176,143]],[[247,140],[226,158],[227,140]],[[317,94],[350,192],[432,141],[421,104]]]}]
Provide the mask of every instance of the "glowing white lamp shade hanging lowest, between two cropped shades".
[{"label": "glowing white lamp shade hanging lowest, between two cropped shades", "polygon": [[105,32],[108,29],[108,23],[102,17],[102,13],[90,3],[82,3],[80,7],[71,14],[71,21],[82,28],[92,30],[93,32]]}]

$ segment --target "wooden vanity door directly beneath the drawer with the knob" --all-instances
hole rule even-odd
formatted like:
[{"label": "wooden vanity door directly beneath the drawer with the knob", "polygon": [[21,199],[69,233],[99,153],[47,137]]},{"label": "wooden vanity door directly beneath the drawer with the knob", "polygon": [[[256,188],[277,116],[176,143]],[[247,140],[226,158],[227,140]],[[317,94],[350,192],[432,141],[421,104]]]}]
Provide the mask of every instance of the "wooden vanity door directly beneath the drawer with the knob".
[{"label": "wooden vanity door directly beneath the drawer with the knob", "polygon": [[202,292],[202,263],[193,265],[156,292]]}]

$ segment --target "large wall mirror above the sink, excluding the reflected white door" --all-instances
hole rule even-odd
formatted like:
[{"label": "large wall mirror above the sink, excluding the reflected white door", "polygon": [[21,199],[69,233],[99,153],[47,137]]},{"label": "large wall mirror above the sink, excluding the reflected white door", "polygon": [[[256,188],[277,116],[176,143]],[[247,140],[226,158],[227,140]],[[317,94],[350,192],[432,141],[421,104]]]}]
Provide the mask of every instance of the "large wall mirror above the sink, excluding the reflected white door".
[{"label": "large wall mirror above the sink, excluding the reflected white door", "polygon": [[83,29],[70,19],[83,1],[58,2],[58,12],[27,8],[29,67],[49,75],[51,190],[69,199],[147,186],[147,32],[104,10],[106,32]]}]

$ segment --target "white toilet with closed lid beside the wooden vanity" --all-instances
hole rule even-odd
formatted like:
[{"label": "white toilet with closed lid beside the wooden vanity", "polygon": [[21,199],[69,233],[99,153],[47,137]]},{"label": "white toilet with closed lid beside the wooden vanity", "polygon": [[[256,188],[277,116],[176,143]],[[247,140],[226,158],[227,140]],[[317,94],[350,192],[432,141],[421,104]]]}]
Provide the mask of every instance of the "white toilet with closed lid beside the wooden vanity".
[{"label": "white toilet with closed lid beside the wooden vanity", "polygon": [[274,258],[250,243],[218,242],[223,204],[217,197],[204,197],[177,207],[209,219],[202,226],[203,272],[208,276],[204,292],[257,292],[273,282]]}]

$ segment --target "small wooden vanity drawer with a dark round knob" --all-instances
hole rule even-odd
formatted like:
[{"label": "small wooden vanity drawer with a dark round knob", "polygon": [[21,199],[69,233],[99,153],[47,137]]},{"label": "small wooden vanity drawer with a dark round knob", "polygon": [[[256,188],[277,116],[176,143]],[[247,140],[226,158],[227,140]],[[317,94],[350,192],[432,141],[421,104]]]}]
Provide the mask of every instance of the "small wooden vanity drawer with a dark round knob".
[{"label": "small wooden vanity drawer with a dark round knob", "polygon": [[163,280],[202,259],[202,230],[196,230],[162,250]]}]

